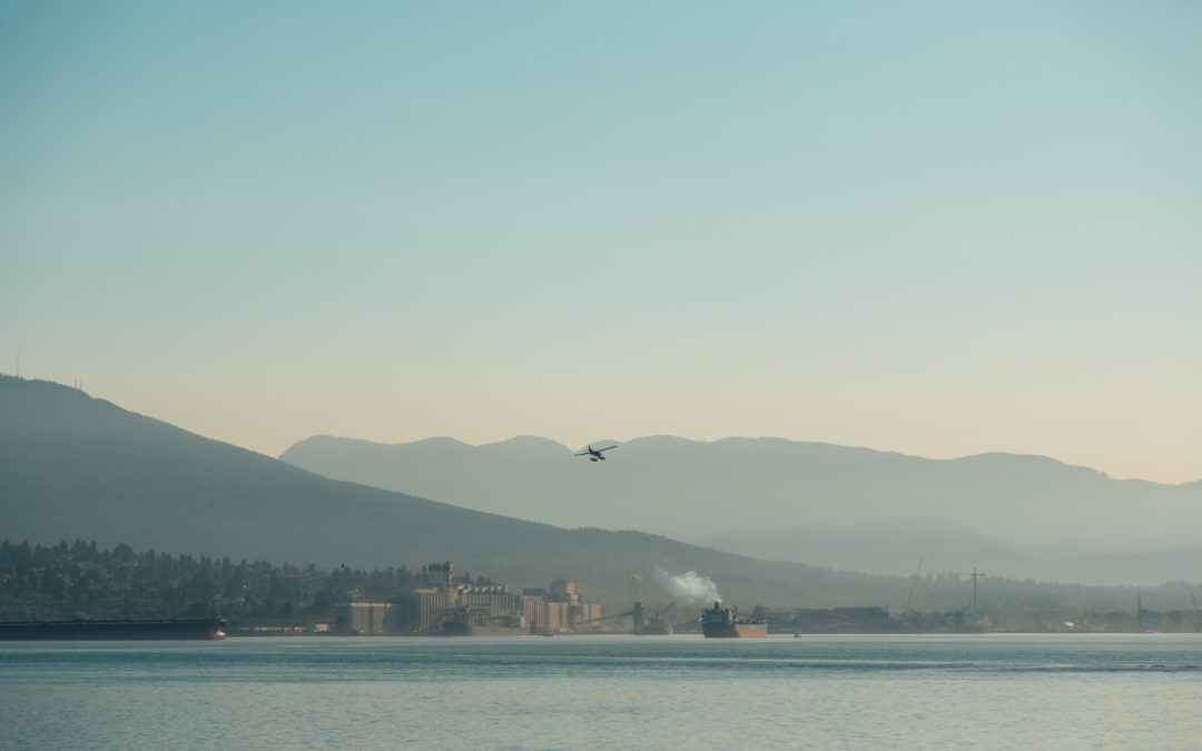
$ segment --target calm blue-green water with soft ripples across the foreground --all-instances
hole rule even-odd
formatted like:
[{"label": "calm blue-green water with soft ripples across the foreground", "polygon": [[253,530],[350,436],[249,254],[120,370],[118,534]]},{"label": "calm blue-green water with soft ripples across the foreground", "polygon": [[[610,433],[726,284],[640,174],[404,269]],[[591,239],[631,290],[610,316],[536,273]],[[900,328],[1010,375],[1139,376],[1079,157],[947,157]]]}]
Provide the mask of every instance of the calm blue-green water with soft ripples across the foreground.
[{"label": "calm blue-green water with soft ripples across the foreground", "polygon": [[0,643],[14,749],[1202,749],[1202,634]]}]

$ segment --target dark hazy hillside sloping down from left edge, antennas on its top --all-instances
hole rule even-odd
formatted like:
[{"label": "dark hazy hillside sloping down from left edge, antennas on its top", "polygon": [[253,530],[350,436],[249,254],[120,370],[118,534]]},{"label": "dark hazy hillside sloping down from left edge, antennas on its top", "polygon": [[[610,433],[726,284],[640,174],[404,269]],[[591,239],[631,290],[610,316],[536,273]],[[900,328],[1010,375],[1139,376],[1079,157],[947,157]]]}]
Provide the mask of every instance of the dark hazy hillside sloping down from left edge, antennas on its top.
[{"label": "dark hazy hillside sloping down from left edge, antennas on its top", "polygon": [[[334,567],[454,560],[606,604],[645,570],[695,570],[736,603],[888,604],[903,579],[770,564],[635,531],[564,530],[327,479],[85,393],[0,376],[0,535]],[[654,588],[649,596],[654,596]]]}]

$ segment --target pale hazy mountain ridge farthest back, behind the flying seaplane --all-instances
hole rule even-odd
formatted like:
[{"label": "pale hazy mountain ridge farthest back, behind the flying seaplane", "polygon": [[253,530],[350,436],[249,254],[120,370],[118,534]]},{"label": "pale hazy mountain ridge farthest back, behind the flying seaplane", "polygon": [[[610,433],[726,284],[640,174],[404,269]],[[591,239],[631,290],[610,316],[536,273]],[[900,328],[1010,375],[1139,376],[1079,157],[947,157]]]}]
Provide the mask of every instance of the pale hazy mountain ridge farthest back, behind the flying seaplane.
[{"label": "pale hazy mountain ridge farthest back, behind the flying seaplane", "polygon": [[[1045,561],[1202,544],[1202,483],[1113,479],[1047,457],[924,459],[783,439],[653,436],[619,443],[601,464],[572,459],[570,448],[545,439],[520,442],[530,449],[315,436],[281,459],[492,513],[564,526],[637,525],[695,541],[756,526],[924,517]],[[909,558],[922,554],[916,544]]]}]

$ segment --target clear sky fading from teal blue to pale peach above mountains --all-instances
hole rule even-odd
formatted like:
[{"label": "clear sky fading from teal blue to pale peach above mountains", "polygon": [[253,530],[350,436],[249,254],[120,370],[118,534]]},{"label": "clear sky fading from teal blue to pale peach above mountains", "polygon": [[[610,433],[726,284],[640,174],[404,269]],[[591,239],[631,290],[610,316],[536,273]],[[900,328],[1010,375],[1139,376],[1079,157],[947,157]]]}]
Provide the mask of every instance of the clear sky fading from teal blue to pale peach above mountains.
[{"label": "clear sky fading from teal blue to pale peach above mountains", "polygon": [[1198,479],[1198,81],[1171,0],[0,0],[0,371]]}]

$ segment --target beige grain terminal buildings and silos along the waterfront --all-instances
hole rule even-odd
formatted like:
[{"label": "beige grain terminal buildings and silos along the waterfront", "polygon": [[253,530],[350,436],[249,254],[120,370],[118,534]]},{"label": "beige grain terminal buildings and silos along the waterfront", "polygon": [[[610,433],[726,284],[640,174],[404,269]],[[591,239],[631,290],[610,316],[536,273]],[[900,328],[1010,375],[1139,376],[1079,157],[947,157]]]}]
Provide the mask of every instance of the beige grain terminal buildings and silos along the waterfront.
[{"label": "beige grain terminal buildings and silos along the waterfront", "polygon": [[339,630],[361,634],[549,634],[601,618],[601,606],[583,602],[576,582],[569,579],[552,582],[548,588],[526,588],[518,595],[504,585],[456,582],[451,561],[429,564],[426,572],[426,586],[403,592],[392,602],[338,606]]}]

